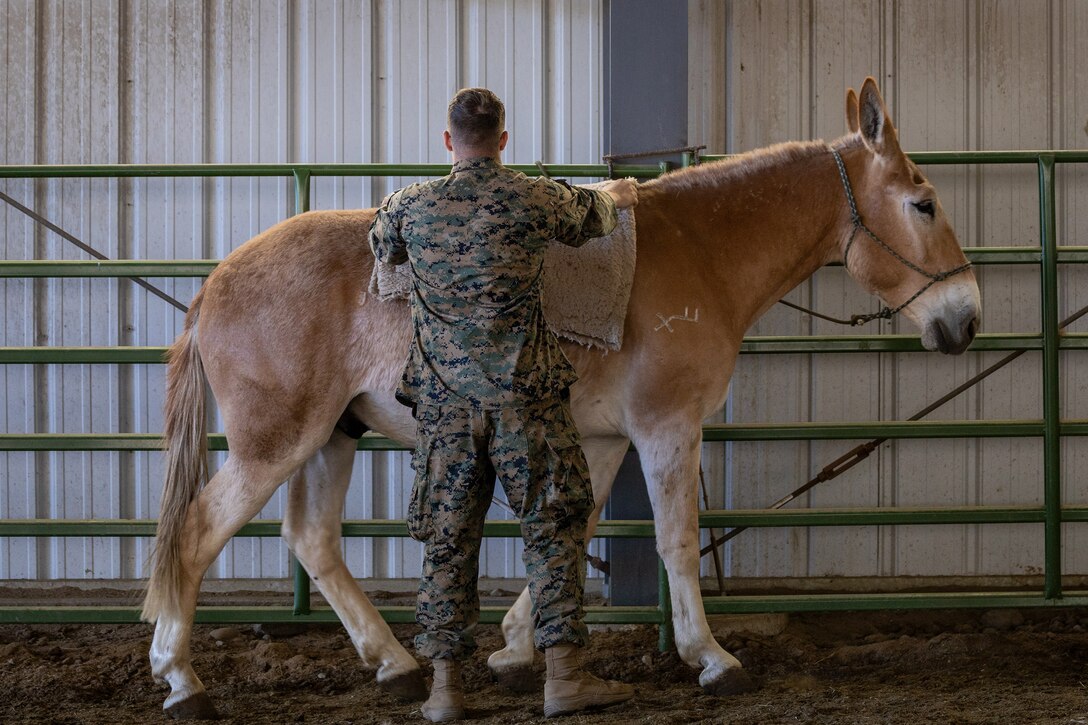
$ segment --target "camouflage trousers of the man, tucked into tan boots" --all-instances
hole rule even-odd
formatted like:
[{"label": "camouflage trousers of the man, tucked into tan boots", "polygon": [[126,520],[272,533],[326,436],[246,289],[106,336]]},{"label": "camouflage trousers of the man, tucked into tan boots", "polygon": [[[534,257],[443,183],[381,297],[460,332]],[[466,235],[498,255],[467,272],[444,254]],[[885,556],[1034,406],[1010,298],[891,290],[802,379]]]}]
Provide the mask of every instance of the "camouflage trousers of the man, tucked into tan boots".
[{"label": "camouflage trousers of the man, tucked into tan boots", "polygon": [[569,404],[555,397],[496,410],[419,406],[416,417],[408,529],[425,544],[417,651],[462,660],[475,650],[480,545],[496,478],[521,519],[536,648],[584,646],[593,489]]}]

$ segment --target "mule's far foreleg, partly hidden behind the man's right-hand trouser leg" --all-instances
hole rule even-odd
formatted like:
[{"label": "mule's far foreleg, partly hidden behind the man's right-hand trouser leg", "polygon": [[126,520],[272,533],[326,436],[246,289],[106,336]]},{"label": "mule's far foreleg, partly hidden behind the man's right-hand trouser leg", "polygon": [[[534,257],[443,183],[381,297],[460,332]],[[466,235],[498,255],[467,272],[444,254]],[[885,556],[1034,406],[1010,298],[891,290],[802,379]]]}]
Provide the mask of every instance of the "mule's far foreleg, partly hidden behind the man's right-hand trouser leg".
[{"label": "mule's far foreleg, partly hidden behind the man's right-hand trouser leg", "polygon": [[[590,515],[586,540],[593,538],[601,517],[601,509],[608,500],[616,471],[623,463],[623,454],[630,441],[626,438],[593,438],[582,442],[585,462],[590,466],[595,507]],[[503,639],[506,647],[487,658],[492,676],[504,687],[516,692],[531,692],[540,688],[541,681],[533,662],[536,648],[533,644],[532,600],[529,588],[521,590],[514,606],[503,617]]]}]

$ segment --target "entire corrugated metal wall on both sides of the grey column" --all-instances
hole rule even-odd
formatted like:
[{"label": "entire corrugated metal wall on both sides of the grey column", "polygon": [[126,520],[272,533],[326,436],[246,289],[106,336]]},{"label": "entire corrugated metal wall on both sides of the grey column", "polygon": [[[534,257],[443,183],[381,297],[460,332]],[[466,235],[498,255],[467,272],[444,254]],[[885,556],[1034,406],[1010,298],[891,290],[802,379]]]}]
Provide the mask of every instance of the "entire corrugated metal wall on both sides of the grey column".
[{"label": "entire corrugated metal wall on both sides of the grey column", "polygon": [[[607,12],[597,0],[9,0],[0,5],[0,162],[444,161],[445,103],[465,85],[487,85],[506,100],[507,160],[594,161],[603,152]],[[690,140],[712,151],[838,136],[844,89],[866,75],[880,81],[908,150],[1088,145],[1083,2],[691,0],[689,20]],[[965,245],[1037,244],[1034,169],[928,173]],[[319,179],[313,206],[372,206],[408,181]],[[1059,173],[1061,244],[1088,244],[1086,182],[1088,170]],[[222,257],[293,211],[281,180],[8,181],[2,188],[122,258]],[[0,234],[7,258],[83,257],[7,207]],[[1063,272],[1063,312],[1088,296],[1077,275]],[[1034,268],[991,267],[979,278],[987,331],[1038,329]],[[198,285],[154,282],[185,302]],[[0,345],[164,345],[182,323],[127,282],[0,281]],[[831,314],[873,307],[841,270],[820,271],[792,298]],[[753,332],[842,331],[775,309]],[[1088,368],[1064,355],[1064,415],[1088,417],[1079,394]],[[905,418],[996,357],[742,357],[727,416]],[[0,385],[8,432],[162,428],[159,366],[0,366]],[[1039,393],[1039,359],[1027,355],[934,417],[1035,417]],[[1079,501],[1085,447],[1064,446],[1065,489]],[[712,496],[766,505],[846,447],[732,445],[725,475],[708,479]],[[708,471],[721,451],[706,446]],[[161,467],[146,453],[0,454],[0,517],[151,517]],[[900,442],[807,503],[1033,503],[1040,470],[1037,441]],[[401,517],[409,472],[404,455],[360,454],[347,516]],[[281,501],[262,515],[279,517]],[[1031,526],[753,530],[728,561],[740,576],[1030,574],[1041,568],[1040,534]],[[1070,573],[1088,572],[1083,538],[1068,527]],[[134,577],[146,553],[143,541],[0,539],[0,578]],[[348,544],[359,577],[415,576],[418,560],[410,541]],[[239,540],[212,575],[283,576],[286,561],[277,541]],[[517,545],[489,544],[484,572],[520,576]]]}]

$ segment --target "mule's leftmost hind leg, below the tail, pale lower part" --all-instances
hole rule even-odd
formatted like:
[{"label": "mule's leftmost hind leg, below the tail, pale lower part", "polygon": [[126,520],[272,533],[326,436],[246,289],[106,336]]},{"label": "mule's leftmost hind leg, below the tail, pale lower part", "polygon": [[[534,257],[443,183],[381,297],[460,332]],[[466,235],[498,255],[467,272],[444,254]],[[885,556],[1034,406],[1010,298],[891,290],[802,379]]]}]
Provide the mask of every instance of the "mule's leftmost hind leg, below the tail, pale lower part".
[{"label": "mule's leftmost hind leg, below the tail, pale lower part", "polygon": [[295,466],[248,463],[232,455],[189,505],[181,534],[177,590],[163,598],[157,611],[150,653],[151,674],[170,685],[162,708],[173,717],[215,716],[189,659],[200,581],[227,540],[260,512]]}]

